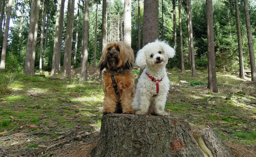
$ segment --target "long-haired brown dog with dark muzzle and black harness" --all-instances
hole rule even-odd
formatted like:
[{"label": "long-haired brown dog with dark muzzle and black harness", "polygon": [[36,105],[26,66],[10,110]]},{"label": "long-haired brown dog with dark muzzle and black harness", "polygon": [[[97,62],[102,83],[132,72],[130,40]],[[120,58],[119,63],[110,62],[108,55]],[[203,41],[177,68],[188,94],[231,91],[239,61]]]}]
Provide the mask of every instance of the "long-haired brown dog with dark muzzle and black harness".
[{"label": "long-haired brown dog with dark muzzle and black harness", "polygon": [[[133,50],[126,42],[109,42],[99,61],[103,70],[103,113],[134,114],[131,103],[134,97]],[[122,111],[121,111],[122,110]]]}]

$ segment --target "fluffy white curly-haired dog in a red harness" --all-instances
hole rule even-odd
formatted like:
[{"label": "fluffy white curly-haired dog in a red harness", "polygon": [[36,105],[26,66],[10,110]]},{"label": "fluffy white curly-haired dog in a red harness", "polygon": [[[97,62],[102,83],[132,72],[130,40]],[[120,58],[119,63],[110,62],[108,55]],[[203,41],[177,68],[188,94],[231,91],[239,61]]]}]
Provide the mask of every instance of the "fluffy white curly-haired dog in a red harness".
[{"label": "fluffy white curly-haired dog in a red harness", "polygon": [[[164,111],[170,83],[166,73],[168,58],[173,58],[175,51],[166,41],[155,40],[138,51],[135,63],[145,68],[138,79],[132,108],[136,115],[157,114],[168,116]],[[151,106],[151,107],[150,107]],[[148,111],[150,108],[150,111]]]}]

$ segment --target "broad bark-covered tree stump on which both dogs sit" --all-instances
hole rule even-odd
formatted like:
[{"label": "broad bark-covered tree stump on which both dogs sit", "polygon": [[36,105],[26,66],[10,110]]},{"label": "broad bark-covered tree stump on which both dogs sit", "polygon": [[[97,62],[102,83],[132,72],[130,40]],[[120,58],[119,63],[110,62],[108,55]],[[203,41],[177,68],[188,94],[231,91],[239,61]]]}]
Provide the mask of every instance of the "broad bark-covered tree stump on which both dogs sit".
[{"label": "broad bark-covered tree stump on which both dogs sit", "polygon": [[[102,117],[98,146],[90,155],[93,157],[205,157],[207,153],[203,153],[190,131],[188,121],[176,117],[107,114]],[[216,138],[217,134],[205,136],[197,134],[197,136]],[[205,145],[210,152],[220,149],[214,142],[205,142]],[[230,150],[227,150],[230,154]],[[214,152],[212,154],[218,156]]]}]

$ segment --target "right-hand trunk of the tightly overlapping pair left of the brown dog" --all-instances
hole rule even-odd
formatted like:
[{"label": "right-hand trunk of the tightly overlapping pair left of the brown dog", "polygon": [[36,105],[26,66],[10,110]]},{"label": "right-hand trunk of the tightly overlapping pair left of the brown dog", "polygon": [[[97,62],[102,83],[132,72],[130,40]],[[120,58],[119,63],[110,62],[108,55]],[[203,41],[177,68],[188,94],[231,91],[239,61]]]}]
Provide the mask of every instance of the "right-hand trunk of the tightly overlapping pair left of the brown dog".
[{"label": "right-hand trunk of the tightly overlapping pair left of the brown dog", "polygon": [[68,40],[68,55],[67,55],[67,69],[66,69],[66,77],[71,77],[71,55],[72,55],[72,37],[73,37],[73,24],[74,24],[74,6],[75,0],[71,1],[71,13],[70,13],[70,27],[69,27],[69,40]]}]

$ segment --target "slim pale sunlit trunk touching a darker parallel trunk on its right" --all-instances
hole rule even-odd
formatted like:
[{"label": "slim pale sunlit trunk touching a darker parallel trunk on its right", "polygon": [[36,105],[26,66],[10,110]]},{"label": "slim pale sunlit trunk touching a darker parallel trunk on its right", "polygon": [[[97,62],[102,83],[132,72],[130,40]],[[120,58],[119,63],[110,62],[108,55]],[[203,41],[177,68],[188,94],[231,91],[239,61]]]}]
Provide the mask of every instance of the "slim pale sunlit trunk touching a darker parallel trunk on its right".
[{"label": "slim pale sunlit trunk touching a darker parallel trunk on its right", "polygon": [[56,53],[57,53],[57,44],[58,44],[58,35],[59,35],[59,23],[60,23],[60,4],[61,0],[58,0],[57,3],[57,14],[56,14],[56,23],[55,23],[55,35],[54,35],[54,46],[53,46],[53,55],[52,55],[52,70],[51,77],[55,76],[56,72]]}]

